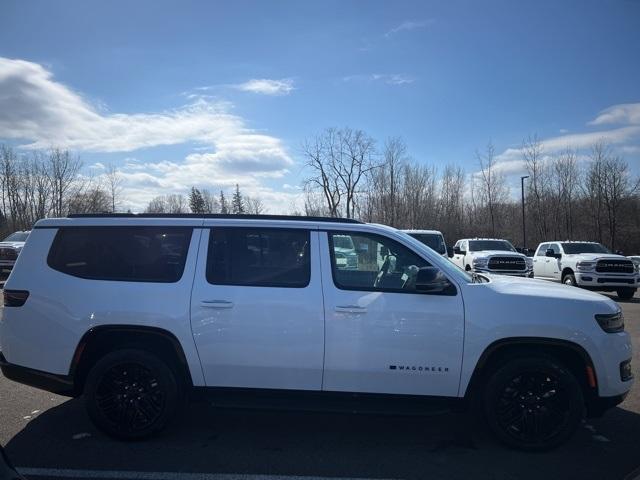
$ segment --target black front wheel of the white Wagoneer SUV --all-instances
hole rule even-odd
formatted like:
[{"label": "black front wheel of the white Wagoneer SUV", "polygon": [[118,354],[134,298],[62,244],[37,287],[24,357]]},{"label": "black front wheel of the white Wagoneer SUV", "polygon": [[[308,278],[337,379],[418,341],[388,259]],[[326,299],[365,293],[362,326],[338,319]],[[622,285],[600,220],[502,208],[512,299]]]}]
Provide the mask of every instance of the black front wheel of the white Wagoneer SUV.
[{"label": "black front wheel of the white Wagoneer SUV", "polygon": [[582,388],[561,363],[521,357],[489,376],[483,395],[489,428],[504,444],[546,451],[567,441],[584,416]]}]

